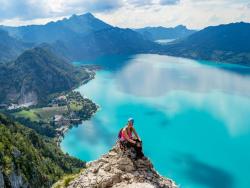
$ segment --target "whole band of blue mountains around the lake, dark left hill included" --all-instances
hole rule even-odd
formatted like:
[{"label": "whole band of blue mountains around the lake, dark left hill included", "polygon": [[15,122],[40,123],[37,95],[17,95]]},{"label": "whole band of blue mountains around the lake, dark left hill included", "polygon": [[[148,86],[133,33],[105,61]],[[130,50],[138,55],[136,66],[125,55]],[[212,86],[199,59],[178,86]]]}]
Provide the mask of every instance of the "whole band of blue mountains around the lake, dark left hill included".
[{"label": "whole band of blue mountains around the lake, dark left hill included", "polygon": [[[132,30],[87,13],[45,25],[1,29],[1,102],[44,102],[88,76],[68,62],[104,55],[159,53],[250,66],[250,24],[243,22],[196,32],[185,26]],[[167,45],[152,41],[163,37],[177,39]],[[79,72],[83,76],[78,77]]]}]

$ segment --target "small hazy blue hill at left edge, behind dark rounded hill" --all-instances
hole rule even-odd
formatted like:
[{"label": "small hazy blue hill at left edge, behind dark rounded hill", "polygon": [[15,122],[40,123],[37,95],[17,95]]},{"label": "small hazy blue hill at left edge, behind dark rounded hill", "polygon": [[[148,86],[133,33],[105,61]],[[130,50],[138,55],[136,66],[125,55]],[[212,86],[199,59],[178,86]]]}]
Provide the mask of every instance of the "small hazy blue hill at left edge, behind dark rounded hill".
[{"label": "small hazy blue hill at left edge, behind dark rounded hill", "polygon": [[16,58],[31,44],[24,43],[8,35],[8,32],[0,29],[0,63]]}]

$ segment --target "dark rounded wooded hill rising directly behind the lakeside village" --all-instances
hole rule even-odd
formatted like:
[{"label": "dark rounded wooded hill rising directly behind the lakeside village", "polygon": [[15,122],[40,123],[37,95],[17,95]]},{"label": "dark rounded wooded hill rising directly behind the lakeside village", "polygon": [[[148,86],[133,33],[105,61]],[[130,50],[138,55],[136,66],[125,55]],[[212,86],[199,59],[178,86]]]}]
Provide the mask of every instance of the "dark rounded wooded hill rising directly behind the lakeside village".
[{"label": "dark rounded wooded hill rising directly behind the lakeside village", "polygon": [[71,89],[86,72],[43,48],[25,51],[14,62],[0,67],[0,101],[39,103],[52,93]]}]

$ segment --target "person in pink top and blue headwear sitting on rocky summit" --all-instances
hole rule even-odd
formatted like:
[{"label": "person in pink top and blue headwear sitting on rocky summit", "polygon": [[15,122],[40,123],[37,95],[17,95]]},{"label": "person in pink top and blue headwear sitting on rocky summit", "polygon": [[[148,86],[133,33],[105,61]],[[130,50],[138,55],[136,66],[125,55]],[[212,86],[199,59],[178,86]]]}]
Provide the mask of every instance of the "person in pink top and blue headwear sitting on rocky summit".
[{"label": "person in pink top and blue headwear sitting on rocky summit", "polygon": [[[133,137],[133,134],[135,137]],[[142,153],[142,141],[135,131],[133,118],[128,119],[126,126],[120,130],[118,138],[122,146],[133,147],[135,149],[137,158],[144,157]]]}]

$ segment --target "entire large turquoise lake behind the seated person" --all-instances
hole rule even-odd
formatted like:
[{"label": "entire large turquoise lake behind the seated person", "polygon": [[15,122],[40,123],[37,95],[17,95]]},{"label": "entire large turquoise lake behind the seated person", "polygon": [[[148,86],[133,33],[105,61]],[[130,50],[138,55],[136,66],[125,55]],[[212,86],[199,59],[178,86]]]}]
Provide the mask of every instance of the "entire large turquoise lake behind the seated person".
[{"label": "entire large turquoise lake behind the seated person", "polygon": [[250,68],[150,54],[84,63],[104,67],[77,89],[101,108],[63,151],[97,159],[133,117],[145,154],[180,187],[250,187]]}]

